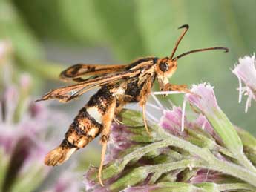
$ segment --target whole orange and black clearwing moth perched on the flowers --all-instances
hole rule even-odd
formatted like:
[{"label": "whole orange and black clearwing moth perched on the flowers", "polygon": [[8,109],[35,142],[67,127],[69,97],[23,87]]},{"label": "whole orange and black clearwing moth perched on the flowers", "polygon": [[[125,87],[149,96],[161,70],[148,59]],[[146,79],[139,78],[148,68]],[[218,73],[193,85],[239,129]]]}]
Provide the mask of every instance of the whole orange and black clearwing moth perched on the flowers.
[{"label": "whole orange and black clearwing moth perched on the flowers", "polygon": [[[209,47],[191,50],[179,56],[174,56],[183,36],[188,31],[188,24],[184,24],[179,29],[183,29],[183,32],[177,39],[169,57],[157,58],[149,56],[137,59],[126,65],[75,64],[60,74],[61,79],[77,83],[51,90],[38,101],[58,99],[60,102],[70,102],[88,90],[96,87],[99,87],[99,90],[79,110],[78,115],[65,133],[65,139],[63,139],[62,143],[47,154],[45,165],[55,166],[62,164],[62,162],[69,159],[72,153],[84,148],[96,136],[101,134],[102,155],[98,178],[100,184],[103,185],[102,168],[111,122],[115,120],[115,116],[122,110],[122,107],[127,103],[138,102],[142,107],[145,129],[149,133],[145,118],[145,104],[155,80],[157,79],[160,90],[176,90],[190,93],[186,85],[173,85],[168,82],[168,78],[177,70],[178,59],[191,53],[206,50],[229,51],[226,47]],[[83,76],[89,77],[84,79]]]}]

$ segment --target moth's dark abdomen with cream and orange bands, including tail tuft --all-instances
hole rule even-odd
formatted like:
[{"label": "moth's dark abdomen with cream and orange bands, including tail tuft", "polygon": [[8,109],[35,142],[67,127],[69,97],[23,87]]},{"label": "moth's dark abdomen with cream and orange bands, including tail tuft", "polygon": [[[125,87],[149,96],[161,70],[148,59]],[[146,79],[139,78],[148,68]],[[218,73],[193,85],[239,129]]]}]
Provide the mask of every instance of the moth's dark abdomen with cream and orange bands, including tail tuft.
[{"label": "moth's dark abdomen with cream and orange bands, including tail tuft", "polygon": [[108,87],[102,87],[91,97],[88,104],[79,111],[59,147],[50,151],[45,157],[45,164],[59,165],[79,148],[84,148],[102,132],[102,116],[113,99]]}]

